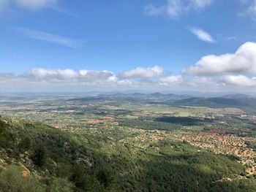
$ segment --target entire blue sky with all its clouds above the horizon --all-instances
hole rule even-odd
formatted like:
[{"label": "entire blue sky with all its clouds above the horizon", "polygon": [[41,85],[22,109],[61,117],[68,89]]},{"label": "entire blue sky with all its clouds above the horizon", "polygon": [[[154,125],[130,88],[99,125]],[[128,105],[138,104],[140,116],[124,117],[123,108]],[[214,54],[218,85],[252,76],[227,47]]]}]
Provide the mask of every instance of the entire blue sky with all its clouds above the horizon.
[{"label": "entire blue sky with all its clouds above the horizon", "polygon": [[0,0],[0,89],[256,93],[256,0]]}]

